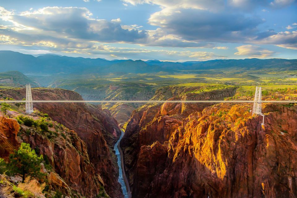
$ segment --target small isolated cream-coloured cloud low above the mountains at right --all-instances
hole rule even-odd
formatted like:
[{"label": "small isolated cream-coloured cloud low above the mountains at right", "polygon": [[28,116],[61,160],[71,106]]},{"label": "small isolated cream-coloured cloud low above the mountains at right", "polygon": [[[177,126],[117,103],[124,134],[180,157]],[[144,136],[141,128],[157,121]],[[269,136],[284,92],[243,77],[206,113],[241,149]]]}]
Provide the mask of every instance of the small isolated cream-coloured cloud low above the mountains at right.
[{"label": "small isolated cream-coloured cloud low above the mountains at right", "polygon": [[275,52],[261,48],[257,45],[241,45],[236,47],[236,49],[238,52],[236,52],[235,55],[243,55],[250,58],[267,58],[275,54]]}]

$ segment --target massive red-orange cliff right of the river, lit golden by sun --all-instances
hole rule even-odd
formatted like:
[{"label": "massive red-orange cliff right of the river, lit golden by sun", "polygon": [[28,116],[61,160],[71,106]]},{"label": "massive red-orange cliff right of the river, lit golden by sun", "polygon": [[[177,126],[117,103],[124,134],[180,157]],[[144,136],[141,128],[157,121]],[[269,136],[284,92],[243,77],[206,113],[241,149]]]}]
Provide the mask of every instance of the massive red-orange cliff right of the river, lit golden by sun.
[{"label": "massive red-orange cliff right of the river, lit golden by sun", "polygon": [[297,196],[295,106],[265,104],[261,126],[252,104],[185,109],[187,116],[177,105],[131,116],[122,146],[132,196]]}]

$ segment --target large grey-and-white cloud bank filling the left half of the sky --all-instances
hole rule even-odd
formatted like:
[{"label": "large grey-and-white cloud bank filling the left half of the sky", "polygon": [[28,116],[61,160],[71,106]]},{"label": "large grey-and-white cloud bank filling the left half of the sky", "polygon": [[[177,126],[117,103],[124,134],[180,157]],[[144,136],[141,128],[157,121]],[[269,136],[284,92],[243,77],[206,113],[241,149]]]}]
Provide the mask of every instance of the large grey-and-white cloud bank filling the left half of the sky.
[{"label": "large grey-and-white cloud bank filling the left half of the sky", "polygon": [[148,37],[146,31],[122,28],[120,19],[108,21],[94,19],[92,15],[88,9],[78,7],[45,7],[20,14],[0,7],[0,18],[13,24],[1,33],[27,44],[38,41],[64,45],[88,41],[134,43]]}]

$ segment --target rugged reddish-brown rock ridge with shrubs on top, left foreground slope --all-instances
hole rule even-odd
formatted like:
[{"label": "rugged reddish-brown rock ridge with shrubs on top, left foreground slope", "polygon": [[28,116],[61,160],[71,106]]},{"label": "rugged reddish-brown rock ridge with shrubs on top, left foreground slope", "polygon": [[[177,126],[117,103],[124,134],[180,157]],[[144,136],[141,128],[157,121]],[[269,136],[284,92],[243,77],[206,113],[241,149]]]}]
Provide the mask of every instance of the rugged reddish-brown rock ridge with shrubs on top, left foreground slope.
[{"label": "rugged reddish-brown rock ridge with shrubs on top, left foreground slope", "polygon": [[[21,125],[19,136],[38,154],[42,154],[46,162],[53,167],[55,172],[50,172],[48,179],[59,187],[61,192],[68,195],[69,186],[72,191],[82,196],[97,196],[104,183],[90,163],[86,144],[74,131],[53,124],[55,130],[50,129],[50,132],[40,132]],[[65,182],[61,181],[60,177]]]}]

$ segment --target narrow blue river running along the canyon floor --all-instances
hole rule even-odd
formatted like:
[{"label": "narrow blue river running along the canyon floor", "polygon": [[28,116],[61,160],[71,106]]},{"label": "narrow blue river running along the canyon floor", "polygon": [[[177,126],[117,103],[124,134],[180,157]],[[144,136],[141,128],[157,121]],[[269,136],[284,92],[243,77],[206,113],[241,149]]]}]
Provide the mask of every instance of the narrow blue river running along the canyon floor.
[{"label": "narrow blue river running along the canyon floor", "polygon": [[[125,198],[131,198],[131,193],[130,193],[130,187],[129,187],[129,184],[128,184],[128,180],[126,178],[126,175],[125,175],[125,170],[123,170],[123,152],[120,148],[120,141],[122,140],[122,137],[124,136],[124,130],[122,129],[121,130],[121,136],[120,138],[118,139],[117,143],[114,144],[114,150],[115,150],[115,154],[118,158],[118,182],[121,184],[122,186],[122,190],[123,190],[123,195]],[[124,174],[123,174],[124,172]],[[127,190],[128,188],[128,190]],[[129,193],[128,193],[129,192]]]}]

